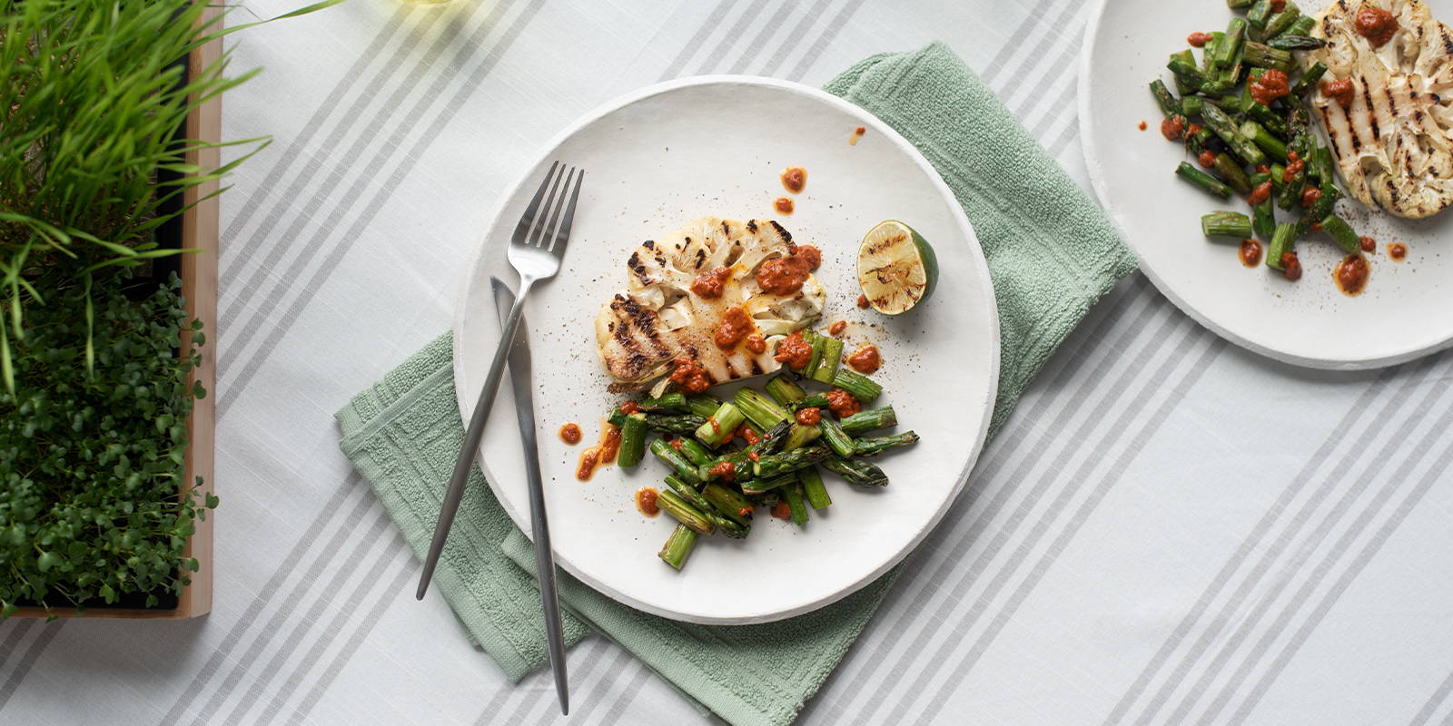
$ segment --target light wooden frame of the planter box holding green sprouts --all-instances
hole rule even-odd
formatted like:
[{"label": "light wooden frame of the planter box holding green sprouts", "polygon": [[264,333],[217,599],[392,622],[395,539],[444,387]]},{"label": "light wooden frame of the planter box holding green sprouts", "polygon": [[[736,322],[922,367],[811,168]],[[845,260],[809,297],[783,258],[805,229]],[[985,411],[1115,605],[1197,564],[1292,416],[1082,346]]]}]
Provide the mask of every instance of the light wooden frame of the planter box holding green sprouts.
[{"label": "light wooden frame of the planter box holding green sprouts", "polygon": [[[208,10],[206,20],[216,17],[219,9]],[[222,41],[198,48],[187,58],[187,73],[201,73],[222,55]],[[186,119],[186,138],[218,142],[222,138],[222,107],[221,99],[214,97],[195,109]],[[208,148],[187,152],[189,164],[201,164],[203,168],[221,166],[221,151]],[[198,199],[216,192],[216,182],[186,190],[183,205],[196,203]],[[216,420],[216,396],[214,383],[216,380],[216,237],[218,237],[218,205],[216,197],[196,203],[182,216],[182,247],[201,250],[195,254],[177,256],[179,274],[182,277],[182,295],[186,296],[186,309],[190,318],[202,321],[206,331],[206,344],[199,348],[202,364],[192,369],[192,380],[201,380],[208,391],[206,398],[193,404],[192,417],[187,420],[189,446],[186,452],[186,475],[183,482],[195,482],[202,478],[198,498],[212,492],[212,460],[214,460],[214,427]],[[186,544],[186,556],[196,558],[201,568],[192,574],[192,584],[182,588],[182,597],[176,607],[155,608],[125,608],[125,607],[87,607],[86,613],[76,616],[68,607],[55,607],[46,613],[41,607],[22,607],[15,617],[134,617],[134,619],[166,619],[179,620],[205,616],[212,610],[212,524],[214,514],[208,513],[206,520],[196,520],[196,533]]]}]

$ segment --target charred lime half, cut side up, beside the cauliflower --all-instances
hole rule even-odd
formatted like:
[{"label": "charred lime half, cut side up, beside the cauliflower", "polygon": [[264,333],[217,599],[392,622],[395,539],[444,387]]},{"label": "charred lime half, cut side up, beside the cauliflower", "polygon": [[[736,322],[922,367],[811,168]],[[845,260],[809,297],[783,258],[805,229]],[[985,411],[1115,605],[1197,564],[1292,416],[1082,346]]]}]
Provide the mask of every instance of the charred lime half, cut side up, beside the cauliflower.
[{"label": "charred lime half, cut side up, beside the cauliflower", "polygon": [[902,315],[933,295],[939,258],[911,227],[888,219],[863,237],[857,248],[857,285],[883,315]]}]

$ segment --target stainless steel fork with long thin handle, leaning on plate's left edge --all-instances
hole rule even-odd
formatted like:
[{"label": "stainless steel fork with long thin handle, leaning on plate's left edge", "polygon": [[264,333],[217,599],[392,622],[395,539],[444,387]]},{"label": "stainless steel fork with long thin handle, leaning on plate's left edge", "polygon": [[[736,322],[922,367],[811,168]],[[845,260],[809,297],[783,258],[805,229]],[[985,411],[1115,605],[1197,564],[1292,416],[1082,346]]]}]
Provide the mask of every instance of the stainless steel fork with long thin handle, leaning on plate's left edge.
[{"label": "stainless steel fork with long thin handle, leaning on plate's left edge", "polygon": [[[514,296],[514,305],[510,306],[510,315],[504,319],[500,346],[494,351],[494,362],[490,363],[490,375],[484,379],[484,389],[479,391],[479,402],[475,404],[474,415],[469,417],[469,428],[465,430],[464,446],[459,447],[459,459],[455,462],[449,489],[439,508],[434,539],[429,543],[424,574],[418,578],[418,591],[414,594],[418,600],[423,600],[429,590],[429,579],[434,575],[434,566],[439,565],[439,553],[443,552],[445,540],[449,539],[449,526],[453,524],[455,513],[459,511],[459,499],[464,498],[464,486],[469,481],[469,468],[474,466],[474,457],[479,452],[484,423],[490,420],[494,393],[500,388],[500,378],[504,376],[504,359],[509,357],[514,334],[520,327],[525,298],[529,296],[530,287],[536,282],[548,280],[559,272],[559,261],[565,257],[565,247],[570,244],[570,224],[575,218],[575,202],[580,199],[580,184],[584,179],[584,170],[570,167],[567,171],[559,161],[551,164],[545,182],[541,183],[535,197],[525,208],[520,224],[514,227],[509,258],[514,272],[520,273],[520,290]],[[545,196],[546,190],[549,196]]]}]

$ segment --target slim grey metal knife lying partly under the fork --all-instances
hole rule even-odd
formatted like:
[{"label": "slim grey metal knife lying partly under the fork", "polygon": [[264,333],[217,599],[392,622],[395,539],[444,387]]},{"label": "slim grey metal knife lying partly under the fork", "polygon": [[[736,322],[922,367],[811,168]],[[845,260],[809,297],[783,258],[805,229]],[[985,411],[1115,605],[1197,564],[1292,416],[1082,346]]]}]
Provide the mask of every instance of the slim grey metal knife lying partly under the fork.
[{"label": "slim grey metal knife lying partly under the fork", "polygon": [[[501,324],[514,305],[514,293],[498,277],[490,277],[494,306]],[[570,713],[570,681],[565,674],[565,636],[559,621],[559,595],[555,588],[555,555],[549,546],[549,523],[545,517],[545,484],[541,479],[539,441],[535,436],[535,391],[530,366],[529,328],[520,318],[520,330],[510,347],[510,389],[514,392],[514,414],[520,424],[520,444],[525,449],[525,476],[530,492],[530,536],[535,540],[535,572],[541,585],[545,611],[545,637],[549,642],[549,664],[555,674],[555,694],[559,711]]]}]

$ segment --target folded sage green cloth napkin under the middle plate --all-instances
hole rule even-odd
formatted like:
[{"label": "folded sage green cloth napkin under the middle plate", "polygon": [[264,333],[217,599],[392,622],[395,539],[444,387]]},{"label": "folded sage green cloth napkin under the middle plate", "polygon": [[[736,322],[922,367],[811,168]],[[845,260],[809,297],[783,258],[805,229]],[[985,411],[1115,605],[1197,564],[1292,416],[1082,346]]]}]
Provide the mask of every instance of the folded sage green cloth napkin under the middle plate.
[{"label": "folded sage green cloth napkin under the middle plate", "polygon": [[[997,431],[1020,392],[1085,311],[1135,269],[1094,203],[940,44],[851,67],[827,90],[875,113],[937,167],[979,237],[1003,334]],[[423,556],[464,437],[450,337],[359,393],[337,418],[353,460]],[[517,680],[546,662],[529,542],[475,469],[434,588],[471,640]],[[790,723],[817,693],[898,569],[825,608],[758,626],[693,626],[632,610],[559,576],[574,643],[594,629],[737,726]]]}]

